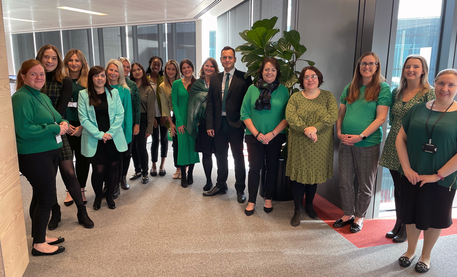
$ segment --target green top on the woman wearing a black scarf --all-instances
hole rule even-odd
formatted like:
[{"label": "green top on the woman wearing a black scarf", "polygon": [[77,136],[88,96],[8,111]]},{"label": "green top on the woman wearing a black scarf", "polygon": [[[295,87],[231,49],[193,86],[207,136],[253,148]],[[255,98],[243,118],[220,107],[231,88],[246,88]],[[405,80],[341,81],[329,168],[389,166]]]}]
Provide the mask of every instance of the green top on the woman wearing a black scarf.
[{"label": "green top on the woman wearing a black scarf", "polygon": [[[273,90],[271,94],[271,110],[256,110],[254,104],[260,95],[260,89],[250,85],[241,105],[241,120],[250,118],[255,128],[262,134],[273,131],[281,120],[285,119],[285,109],[289,101],[289,92],[283,85]],[[283,130],[281,133],[285,133]],[[246,135],[252,135],[251,131],[246,128]],[[257,134],[255,134],[257,135]],[[277,134],[275,134],[277,135]]]}]

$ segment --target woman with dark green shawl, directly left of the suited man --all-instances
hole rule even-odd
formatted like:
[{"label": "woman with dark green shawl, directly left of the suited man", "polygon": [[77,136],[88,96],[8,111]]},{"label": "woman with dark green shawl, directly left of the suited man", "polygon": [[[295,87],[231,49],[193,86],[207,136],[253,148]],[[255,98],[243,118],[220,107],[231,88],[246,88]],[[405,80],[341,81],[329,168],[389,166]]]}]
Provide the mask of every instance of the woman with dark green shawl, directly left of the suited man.
[{"label": "woman with dark green shawl, directly left of the suited man", "polygon": [[195,139],[195,152],[202,153],[203,170],[206,184],[203,191],[212,189],[211,171],[213,169],[212,155],[215,153],[214,138],[206,132],[206,98],[211,76],[219,73],[217,61],[207,58],[199,72],[199,79],[192,83],[189,92],[189,111],[187,117],[187,132]]}]

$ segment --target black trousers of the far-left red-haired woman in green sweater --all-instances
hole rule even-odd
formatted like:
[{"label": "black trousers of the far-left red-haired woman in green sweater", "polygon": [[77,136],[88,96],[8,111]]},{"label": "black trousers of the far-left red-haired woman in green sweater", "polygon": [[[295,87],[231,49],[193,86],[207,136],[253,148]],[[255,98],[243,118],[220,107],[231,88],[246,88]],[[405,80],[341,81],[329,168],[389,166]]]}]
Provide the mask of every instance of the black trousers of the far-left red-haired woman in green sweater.
[{"label": "black trousers of the far-left red-haired woman in green sweater", "polygon": [[55,175],[60,148],[40,153],[19,154],[19,170],[32,186],[30,202],[31,234],[34,243],[46,242],[46,226],[55,203]]}]

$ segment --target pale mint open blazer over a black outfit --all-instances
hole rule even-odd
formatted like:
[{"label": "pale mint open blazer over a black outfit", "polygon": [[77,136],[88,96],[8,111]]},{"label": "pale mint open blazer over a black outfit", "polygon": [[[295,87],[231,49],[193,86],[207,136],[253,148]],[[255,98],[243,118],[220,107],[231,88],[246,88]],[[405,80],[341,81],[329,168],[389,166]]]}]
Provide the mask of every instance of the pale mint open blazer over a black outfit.
[{"label": "pale mint open blazer over a black outfit", "polygon": [[[105,93],[108,100],[108,114],[110,116],[110,130],[107,133],[113,137],[114,144],[119,152],[127,151],[127,142],[122,131],[124,108],[119,98],[119,91],[115,88],[111,90],[112,97],[108,88],[105,88]],[[81,154],[84,157],[93,157],[97,150],[97,144],[105,133],[99,131],[95,110],[93,106],[89,105],[87,89],[79,91],[78,116],[84,128],[81,134]]]}]

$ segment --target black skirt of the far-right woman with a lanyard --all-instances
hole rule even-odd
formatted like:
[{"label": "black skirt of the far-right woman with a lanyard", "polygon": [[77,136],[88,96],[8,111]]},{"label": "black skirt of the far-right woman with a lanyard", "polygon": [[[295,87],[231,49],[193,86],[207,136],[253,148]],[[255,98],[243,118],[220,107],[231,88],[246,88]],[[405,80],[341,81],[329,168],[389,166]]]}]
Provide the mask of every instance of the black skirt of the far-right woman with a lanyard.
[{"label": "black skirt of the far-right woman with a lanyard", "polygon": [[446,229],[452,225],[452,202],[455,189],[438,182],[413,185],[404,175],[400,178],[400,201],[403,206],[402,223],[415,224],[419,230]]}]

